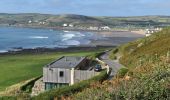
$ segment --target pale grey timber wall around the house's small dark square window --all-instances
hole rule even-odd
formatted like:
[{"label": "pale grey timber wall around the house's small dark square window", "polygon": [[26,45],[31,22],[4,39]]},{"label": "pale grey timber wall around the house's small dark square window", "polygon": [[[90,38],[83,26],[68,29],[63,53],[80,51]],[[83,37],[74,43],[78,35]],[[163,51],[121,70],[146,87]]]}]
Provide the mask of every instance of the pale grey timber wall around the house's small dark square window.
[{"label": "pale grey timber wall around the house's small dark square window", "polygon": [[[60,71],[63,71],[64,76],[60,77]],[[71,71],[70,69],[62,69],[62,68],[51,68],[48,67],[43,68],[43,82],[45,83],[70,83]]]}]

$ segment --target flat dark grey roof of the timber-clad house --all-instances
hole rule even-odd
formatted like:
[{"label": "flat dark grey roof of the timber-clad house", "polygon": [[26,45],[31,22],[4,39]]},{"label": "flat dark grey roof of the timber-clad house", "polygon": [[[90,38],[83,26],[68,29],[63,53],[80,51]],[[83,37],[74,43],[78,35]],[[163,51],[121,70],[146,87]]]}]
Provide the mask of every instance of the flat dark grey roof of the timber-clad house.
[{"label": "flat dark grey roof of the timber-clad house", "polygon": [[76,68],[86,57],[63,56],[45,67],[49,68]]}]

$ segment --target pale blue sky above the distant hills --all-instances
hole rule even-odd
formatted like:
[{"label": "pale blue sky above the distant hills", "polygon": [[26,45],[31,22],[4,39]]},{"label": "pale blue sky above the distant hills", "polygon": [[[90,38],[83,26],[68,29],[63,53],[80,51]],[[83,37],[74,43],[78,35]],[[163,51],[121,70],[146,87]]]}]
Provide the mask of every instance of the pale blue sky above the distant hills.
[{"label": "pale blue sky above the distant hills", "polygon": [[170,15],[170,0],[1,0],[0,13]]}]

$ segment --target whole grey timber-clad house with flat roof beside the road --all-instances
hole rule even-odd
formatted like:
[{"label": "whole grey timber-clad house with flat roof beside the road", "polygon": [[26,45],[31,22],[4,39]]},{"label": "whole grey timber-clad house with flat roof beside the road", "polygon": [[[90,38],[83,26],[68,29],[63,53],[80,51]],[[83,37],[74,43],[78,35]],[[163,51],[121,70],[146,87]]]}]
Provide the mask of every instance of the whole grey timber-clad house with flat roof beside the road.
[{"label": "whole grey timber-clad house with flat roof beside the road", "polygon": [[73,85],[97,74],[88,69],[86,57],[63,56],[43,68],[45,90]]}]

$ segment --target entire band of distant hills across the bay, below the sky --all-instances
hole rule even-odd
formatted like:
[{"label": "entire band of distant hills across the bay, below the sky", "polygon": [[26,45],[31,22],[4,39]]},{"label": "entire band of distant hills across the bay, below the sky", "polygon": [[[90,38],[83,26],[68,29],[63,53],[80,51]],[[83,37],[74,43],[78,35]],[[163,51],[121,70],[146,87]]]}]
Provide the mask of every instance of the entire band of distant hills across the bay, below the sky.
[{"label": "entire band of distant hills across the bay, below the sky", "polygon": [[0,25],[61,27],[64,23],[75,27],[148,27],[169,26],[170,16],[94,17],[74,14],[50,15],[38,13],[0,13]]}]

